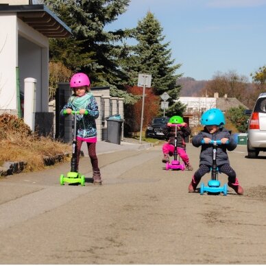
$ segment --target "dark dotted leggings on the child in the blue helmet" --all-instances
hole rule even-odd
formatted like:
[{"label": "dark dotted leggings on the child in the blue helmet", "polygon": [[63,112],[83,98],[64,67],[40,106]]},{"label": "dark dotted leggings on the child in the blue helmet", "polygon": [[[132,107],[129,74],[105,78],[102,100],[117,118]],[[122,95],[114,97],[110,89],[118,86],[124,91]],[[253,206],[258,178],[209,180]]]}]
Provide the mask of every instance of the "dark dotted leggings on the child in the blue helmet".
[{"label": "dark dotted leggings on the child in the blue helmet", "polygon": [[[199,169],[197,169],[197,171],[195,171],[194,173],[195,182],[198,183],[202,179],[202,176],[204,176],[209,171],[210,171],[210,167],[208,165],[200,165]],[[228,176],[228,182],[230,183],[236,182],[237,174],[234,171],[234,169],[230,167],[228,163],[226,163],[225,165],[220,165],[219,172],[225,173]]]}]

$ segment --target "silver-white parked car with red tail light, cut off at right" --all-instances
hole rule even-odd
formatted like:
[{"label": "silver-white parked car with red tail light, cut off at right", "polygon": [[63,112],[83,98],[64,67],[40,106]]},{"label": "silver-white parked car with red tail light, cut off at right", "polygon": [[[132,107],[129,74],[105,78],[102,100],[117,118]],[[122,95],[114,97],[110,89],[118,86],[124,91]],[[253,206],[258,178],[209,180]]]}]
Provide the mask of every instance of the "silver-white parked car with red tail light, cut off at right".
[{"label": "silver-white parked car with red tail light, cut off at right", "polygon": [[259,152],[266,152],[266,93],[261,93],[253,110],[244,110],[250,116],[247,128],[247,154],[256,158]]}]

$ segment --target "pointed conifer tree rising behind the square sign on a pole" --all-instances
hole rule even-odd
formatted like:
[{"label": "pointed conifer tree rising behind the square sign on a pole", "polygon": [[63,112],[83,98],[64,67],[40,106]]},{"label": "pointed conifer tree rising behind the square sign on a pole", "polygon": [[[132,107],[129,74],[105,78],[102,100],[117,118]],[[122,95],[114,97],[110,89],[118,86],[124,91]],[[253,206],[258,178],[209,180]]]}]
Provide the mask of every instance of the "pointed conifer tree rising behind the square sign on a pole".
[{"label": "pointed conifer tree rising behind the square sign on a pole", "polygon": [[169,43],[163,43],[165,36],[162,35],[162,27],[152,12],[147,12],[145,18],[138,21],[134,38],[138,44],[132,47],[132,57],[125,66],[132,83],[136,84],[138,73],[151,74],[154,93],[161,95],[167,92],[171,97],[166,114],[182,114],[184,106],[174,101],[180,95],[181,86],[176,84],[176,80],[181,74],[175,72],[181,64],[174,64],[174,60],[171,60]]}]

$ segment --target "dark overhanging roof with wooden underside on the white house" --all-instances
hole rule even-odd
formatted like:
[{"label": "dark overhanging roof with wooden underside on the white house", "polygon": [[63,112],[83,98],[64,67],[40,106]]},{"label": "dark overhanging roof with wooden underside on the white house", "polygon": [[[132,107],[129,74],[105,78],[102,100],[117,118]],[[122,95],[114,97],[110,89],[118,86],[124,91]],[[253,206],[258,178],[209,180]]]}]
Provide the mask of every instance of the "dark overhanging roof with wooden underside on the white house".
[{"label": "dark overhanging roof with wooden underside on the white house", "polygon": [[67,38],[71,29],[46,5],[0,5],[1,13],[16,12],[16,16],[47,38]]}]

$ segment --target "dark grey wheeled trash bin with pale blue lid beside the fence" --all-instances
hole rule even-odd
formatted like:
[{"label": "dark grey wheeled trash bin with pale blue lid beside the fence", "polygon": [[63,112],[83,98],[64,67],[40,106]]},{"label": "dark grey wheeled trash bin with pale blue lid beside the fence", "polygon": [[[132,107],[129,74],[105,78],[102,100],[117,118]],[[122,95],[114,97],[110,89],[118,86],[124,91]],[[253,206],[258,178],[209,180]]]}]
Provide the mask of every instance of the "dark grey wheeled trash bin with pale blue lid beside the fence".
[{"label": "dark grey wheeled trash bin with pale blue lid beside the fence", "polygon": [[121,144],[122,124],[120,114],[106,117],[107,121],[107,141],[114,144]]}]

